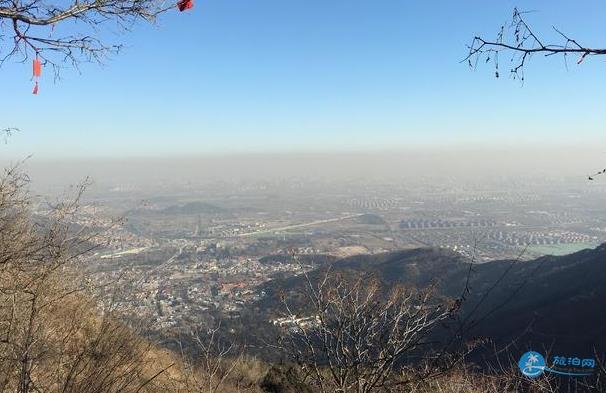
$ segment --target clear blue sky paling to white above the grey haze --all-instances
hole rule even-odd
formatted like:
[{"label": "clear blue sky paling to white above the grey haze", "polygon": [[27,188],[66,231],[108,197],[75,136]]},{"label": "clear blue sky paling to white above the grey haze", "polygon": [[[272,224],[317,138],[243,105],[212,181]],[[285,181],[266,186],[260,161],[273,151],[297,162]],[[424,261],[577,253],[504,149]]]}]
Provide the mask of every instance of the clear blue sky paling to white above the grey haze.
[{"label": "clear blue sky paling to white above the grey haze", "polygon": [[[606,46],[603,1],[524,1]],[[118,37],[124,52],[82,74],[0,69],[0,158],[37,160],[460,146],[604,145],[604,59],[569,70],[536,57],[521,86],[459,61],[493,37],[511,1],[196,0]],[[504,65],[504,64],[503,64]],[[506,73],[505,73],[506,74]]]}]

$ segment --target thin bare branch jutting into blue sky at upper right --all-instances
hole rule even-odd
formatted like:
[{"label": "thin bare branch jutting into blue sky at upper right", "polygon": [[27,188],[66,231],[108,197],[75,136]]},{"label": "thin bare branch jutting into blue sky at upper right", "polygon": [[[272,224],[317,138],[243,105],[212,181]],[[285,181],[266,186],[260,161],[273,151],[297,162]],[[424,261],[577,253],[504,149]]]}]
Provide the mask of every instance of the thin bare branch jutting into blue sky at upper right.
[{"label": "thin bare branch jutting into blue sky at upper right", "polygon": [[[501,26],[495,39],[475,36],[468,46],[469,52],[464,59],[470,67],[475,68],[479,62],[492,62],[495,76],[501,76],[500,56],[509,55],[511,77],[524,81],[524,67],[535,54],[544,56],[562,55],[566,61],[568,55],[576,56],[575,61],[582,63],[588,56],[606,55],[606,48],[593,48],[581,44],[574,38],[553,27],[560,37],[557,42],[547,42],[526,23],[528,12],[513,10],[510,23]],[[567,63],[565,63],[567,64]]]}]

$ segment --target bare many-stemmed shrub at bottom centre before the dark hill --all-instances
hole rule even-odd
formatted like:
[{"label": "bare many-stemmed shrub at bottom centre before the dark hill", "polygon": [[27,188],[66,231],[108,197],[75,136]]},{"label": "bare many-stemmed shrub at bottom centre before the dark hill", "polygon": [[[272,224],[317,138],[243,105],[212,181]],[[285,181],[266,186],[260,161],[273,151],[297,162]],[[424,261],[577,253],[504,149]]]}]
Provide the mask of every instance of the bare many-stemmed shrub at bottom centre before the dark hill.
[{"label": "bare many-stemmed shrub at bottom centre before the dark hill", "polygon": [[317,283],[305,277],[309,315],[297,317],[284,300],[287,332],[280,345],[321,392],[394,391],[409,383],[410,373],[399,374],[404,362],[458,309],[432,290],[396,287],[386,294],[367,277],[352,282],[330,271]]}]

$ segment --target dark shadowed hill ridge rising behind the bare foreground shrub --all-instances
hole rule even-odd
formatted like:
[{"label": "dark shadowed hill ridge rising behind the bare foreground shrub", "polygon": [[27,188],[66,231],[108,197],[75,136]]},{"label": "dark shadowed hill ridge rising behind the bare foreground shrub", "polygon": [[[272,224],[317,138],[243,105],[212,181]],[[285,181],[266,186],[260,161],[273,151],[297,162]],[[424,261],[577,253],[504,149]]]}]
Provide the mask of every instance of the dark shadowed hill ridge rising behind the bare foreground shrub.
[{"label": "dark shadowed hill ridge rising behind the bare foreground shrub", "polygon": [[[342,259],[308,277],[315,282],[331,270],[345,277],[372,277],[384,290],[435,287],[444,298],[464,297],[466,334],[500,346],[515,343],[519,350],[557,348],[585,354],[604,348],[606,244],[531,261],[470,262],[447,250],[416,249]],[[271,281],[258,308],[275,313],[282,307],[280,296],[306,285],[303,276]]]}]

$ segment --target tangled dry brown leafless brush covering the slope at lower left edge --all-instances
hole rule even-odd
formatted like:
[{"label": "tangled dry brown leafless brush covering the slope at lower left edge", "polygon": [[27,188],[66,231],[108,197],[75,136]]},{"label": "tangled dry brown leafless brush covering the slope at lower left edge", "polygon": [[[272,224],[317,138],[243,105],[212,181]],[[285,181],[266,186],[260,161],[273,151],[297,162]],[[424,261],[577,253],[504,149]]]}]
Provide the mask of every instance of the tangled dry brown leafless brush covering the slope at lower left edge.
[{"label": "tangled dry brown leafless brush covering the slope at lower left edge", "polygon": [[84,186],[32,217],[28,178],[0,176],[0,392],[152,392],[170,367],[151,345],[102,312],[75,264],[95,247],[71,225]]}]

